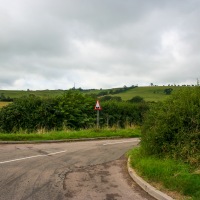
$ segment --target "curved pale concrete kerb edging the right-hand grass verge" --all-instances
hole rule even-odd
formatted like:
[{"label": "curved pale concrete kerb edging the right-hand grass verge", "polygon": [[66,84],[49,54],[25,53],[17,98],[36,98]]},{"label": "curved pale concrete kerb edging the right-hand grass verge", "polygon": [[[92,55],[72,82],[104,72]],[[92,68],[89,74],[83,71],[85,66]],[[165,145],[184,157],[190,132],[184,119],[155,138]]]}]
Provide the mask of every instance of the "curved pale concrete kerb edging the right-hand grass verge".
[{"label": "curved pale concrete kerb edging the right-hand grass verge", "polygon": [[154,197],[157,200],[173,200],[172,197],[168,196],[167,194],[157,190],[153,186],[151,186],[149,183],[144,181],[140,176],[138,176],[135,172],[135,170],[130,165],[130,156],[128,157],[127,162],[127,168],[129,175],[131,178],[148,194],[150,194],[152,197]]}]

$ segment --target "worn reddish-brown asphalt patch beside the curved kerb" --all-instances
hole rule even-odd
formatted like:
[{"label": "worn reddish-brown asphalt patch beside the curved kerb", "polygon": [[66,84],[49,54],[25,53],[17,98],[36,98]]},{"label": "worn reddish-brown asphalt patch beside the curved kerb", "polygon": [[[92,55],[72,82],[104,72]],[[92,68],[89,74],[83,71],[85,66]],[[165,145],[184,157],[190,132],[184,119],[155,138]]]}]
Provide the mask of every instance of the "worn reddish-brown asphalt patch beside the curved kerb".
[{"label": "worn reddish-brown asphalt patch beside the curved kerb", "polygon": [[133,182],[124,156],[104,164],[68,169],[63,189],[70,200],[155,200]]}]

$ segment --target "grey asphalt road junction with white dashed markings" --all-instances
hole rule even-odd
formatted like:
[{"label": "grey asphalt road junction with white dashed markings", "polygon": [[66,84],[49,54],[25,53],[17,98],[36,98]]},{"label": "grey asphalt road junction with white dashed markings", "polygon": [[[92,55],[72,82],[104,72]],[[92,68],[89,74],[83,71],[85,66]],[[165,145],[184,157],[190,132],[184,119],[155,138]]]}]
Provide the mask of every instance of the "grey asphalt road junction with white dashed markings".
[{"label": "grey asphalt road junction with white dashed markings", "polygon": [[138,142],[0,144],[0,200],[153,200],[127,172]]}]

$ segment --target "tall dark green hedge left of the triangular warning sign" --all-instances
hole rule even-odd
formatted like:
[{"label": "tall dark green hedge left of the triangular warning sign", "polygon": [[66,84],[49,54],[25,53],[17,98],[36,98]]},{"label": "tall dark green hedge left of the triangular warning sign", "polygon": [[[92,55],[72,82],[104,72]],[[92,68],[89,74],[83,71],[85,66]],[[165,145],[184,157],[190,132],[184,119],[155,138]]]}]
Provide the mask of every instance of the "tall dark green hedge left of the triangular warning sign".
[{"label": "tall dark green hedge left of the triangular warning sign", "polygon": [[92,98],[73,91],[56,98],[21,97],[0,110],[0,130],[85,128],[94,122],[93,102]]}]

